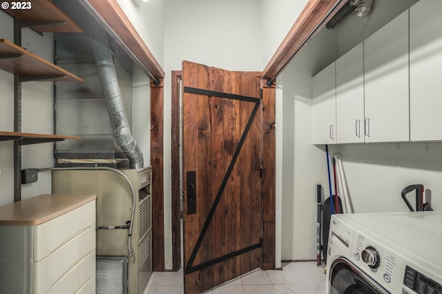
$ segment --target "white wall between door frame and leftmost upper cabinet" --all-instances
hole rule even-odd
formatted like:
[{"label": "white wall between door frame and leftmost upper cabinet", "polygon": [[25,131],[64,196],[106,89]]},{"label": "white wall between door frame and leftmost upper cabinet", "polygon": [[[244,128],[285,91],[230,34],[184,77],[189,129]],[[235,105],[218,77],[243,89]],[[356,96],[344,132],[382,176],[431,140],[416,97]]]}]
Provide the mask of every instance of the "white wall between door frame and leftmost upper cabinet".
[{"label": "white wall between door frame and leftmost upper cabinet", "polygon": [[277,175],[281,182],[277,199],[282,203],[282,260],[311,260],[316,255],[316,185],[327,171],[324,149],[311,144],[311,76],[334,60],[337,51],[336,33],[324,30],[276,79],[282,90],[276,97],[282,101],[276,110],[277,118],[282,116],[282,127],[276,125],[283,158],[277,154],[277,162],[282,162],[281,178]]}]

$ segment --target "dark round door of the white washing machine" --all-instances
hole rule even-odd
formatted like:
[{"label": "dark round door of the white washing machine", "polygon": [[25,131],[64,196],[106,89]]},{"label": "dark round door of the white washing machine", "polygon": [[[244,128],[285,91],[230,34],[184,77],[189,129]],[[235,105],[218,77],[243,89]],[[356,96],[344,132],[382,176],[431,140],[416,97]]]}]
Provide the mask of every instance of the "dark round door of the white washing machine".
[{"label": "dark round door of the white washing machine", "polygon": [[337,258],[332,262],[328,282],[331,294],[389,293],[345,258]]}]

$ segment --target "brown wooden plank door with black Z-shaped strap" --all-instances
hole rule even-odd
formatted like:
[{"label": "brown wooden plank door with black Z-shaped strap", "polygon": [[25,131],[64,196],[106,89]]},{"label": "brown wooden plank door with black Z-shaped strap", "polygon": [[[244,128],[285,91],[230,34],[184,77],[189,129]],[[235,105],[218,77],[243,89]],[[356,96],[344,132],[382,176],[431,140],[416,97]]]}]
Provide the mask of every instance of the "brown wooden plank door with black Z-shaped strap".
[{"label": "brown wooden plank door with black Z-shaped strap", "polygon": [[184,61],[184,291],[260,267],[260,73]]}]

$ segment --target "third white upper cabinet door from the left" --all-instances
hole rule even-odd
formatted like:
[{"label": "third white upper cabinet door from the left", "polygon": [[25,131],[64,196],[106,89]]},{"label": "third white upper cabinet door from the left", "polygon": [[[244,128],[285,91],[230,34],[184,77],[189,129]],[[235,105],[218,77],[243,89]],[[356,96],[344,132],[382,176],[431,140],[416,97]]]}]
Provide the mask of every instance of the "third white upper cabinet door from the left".
[{"label": "third white upper cabinet door from the left", "polygon": [[365,142],[410,140],[408,10],[364,41]]}]

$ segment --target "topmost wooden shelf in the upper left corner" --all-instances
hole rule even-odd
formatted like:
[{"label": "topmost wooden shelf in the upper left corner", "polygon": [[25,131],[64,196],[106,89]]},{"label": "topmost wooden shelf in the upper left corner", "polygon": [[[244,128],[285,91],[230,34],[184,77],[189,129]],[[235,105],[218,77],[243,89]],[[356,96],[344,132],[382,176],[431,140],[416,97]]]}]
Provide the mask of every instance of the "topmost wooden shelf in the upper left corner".
[{"label": "topmost wooden shelf in the upper left corner", "polygon": [[11,9],[14,1],[6,0],[6,2],[9,3],[9,8],[2,9],[2,11],[18,19],[22,28],[32,28],[36,32],[83,32],[72,19],[51,1],[32,0],[30,1],[32,5],[30,9]]}]

